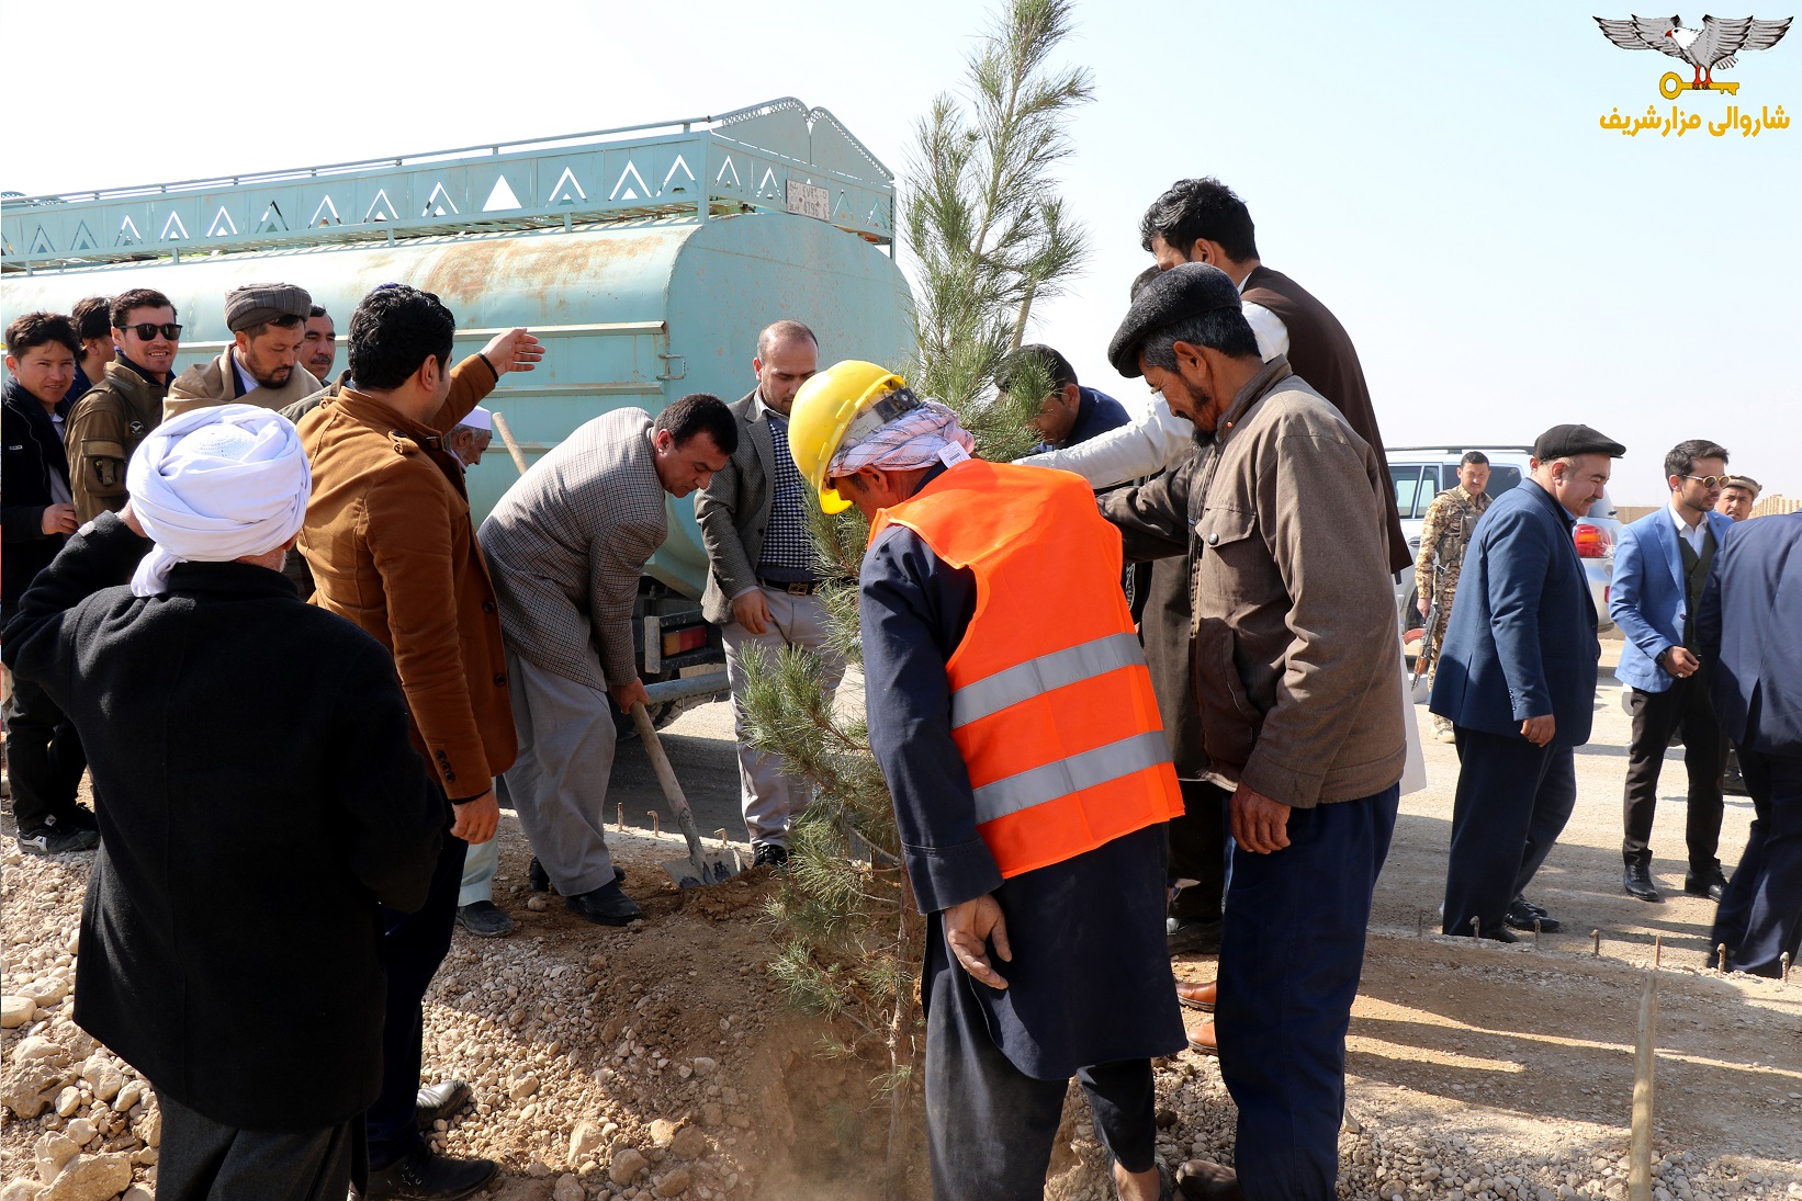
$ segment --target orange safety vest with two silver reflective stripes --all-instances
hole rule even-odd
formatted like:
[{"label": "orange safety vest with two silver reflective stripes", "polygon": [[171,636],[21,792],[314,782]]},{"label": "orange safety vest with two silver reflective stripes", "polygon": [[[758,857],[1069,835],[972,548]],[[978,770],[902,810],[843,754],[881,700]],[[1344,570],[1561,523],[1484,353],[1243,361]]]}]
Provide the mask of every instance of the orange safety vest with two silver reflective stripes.
[{"label": "orange safety vest with two silver reflective stripes", "polygon": [[1121,537],[1079,477],[969,459],[876,515],[977,578],[944,664],[951,740],[1002,879],[1182,814]]}]

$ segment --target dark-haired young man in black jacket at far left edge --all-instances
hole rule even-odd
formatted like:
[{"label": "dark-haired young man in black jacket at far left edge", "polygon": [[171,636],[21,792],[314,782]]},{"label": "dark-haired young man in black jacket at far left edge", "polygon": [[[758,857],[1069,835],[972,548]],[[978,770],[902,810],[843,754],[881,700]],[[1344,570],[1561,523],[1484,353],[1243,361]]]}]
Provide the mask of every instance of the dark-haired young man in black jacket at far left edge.
[{"label": "dark-haired young man in black jacket at far left edge", "polygon": [[[76,529],[63,452],[63,420],[74,403],[81,339],[61,313],[25,313],[5,330],[4,459],[5,569],[0,621]],[[94,814],[76,805],[81,736],[74,722],[29,681],[20,681],[5,706],[7,769],[18,846],[34,855],[94,850]]]}]

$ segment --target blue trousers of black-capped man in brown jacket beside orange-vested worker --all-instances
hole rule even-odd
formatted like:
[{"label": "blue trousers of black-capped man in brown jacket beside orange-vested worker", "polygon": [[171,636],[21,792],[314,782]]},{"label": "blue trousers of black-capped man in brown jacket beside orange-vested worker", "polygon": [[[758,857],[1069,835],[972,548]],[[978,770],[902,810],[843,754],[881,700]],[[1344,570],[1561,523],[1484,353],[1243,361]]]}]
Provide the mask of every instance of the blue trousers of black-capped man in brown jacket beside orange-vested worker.
[{"label": "blue trousers of black-capped man in brown jacket beside orange-vested worker", "polygon": [[1220,936],[1220,1079],[1247,1201],[1333,1201],[1346,1028],[1400,789],[1288,814],[1288,846],[1233,850]]}]

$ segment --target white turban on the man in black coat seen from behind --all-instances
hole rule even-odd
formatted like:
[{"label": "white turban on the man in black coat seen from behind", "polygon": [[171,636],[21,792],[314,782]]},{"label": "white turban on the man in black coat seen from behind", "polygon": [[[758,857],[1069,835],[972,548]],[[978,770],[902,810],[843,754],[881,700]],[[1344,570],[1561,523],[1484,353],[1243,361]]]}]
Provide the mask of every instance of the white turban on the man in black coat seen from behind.
[{"label": "white turban on the man in black coat seen from behind", "polygon": [[229,564],[285,546],[306,519],[314,475],[285,416],[211,405],[151,430],[124,484],[132,511],[157,544],[137,565],[132,592],[155,596],[169,589],[178,562]]}]

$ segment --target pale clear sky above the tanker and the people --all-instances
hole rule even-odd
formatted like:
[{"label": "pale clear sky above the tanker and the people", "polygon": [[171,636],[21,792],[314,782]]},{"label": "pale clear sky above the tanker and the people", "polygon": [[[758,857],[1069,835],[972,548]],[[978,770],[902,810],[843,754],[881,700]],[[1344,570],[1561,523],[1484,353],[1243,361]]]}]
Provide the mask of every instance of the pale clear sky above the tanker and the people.
[{"label": "pale clear sky above the tanker and the people", "polygon": [[[957,85],[987,20],[948,0],[81,9],[0,9],[0,187],[342,162],[777,95],[831,108],[901,169],[914,119]],[[1615,49],[1571,4],[1079,0],[1076,20],[1069,56],[1094,70],[1096,103],[1065,194],[1094,256],[1033,337],[1085,384],[1144,396],[1105,357],[1148,263],[1137,221],[1171,180],[1216,175],[1251,205],[1263,261],[1350,330],[1389,445],[1526,443],[1586,421],[1629,448],[1618,502],[1663,499],[1660,459],[1683,438],[1802,493],[1802,126],[1602,130],[1615,108],[1669,113],[1658,77],[1688,68]],[[1802,117],[1802,31],[1721,77],[1737,97],[1676,106]]]}]

